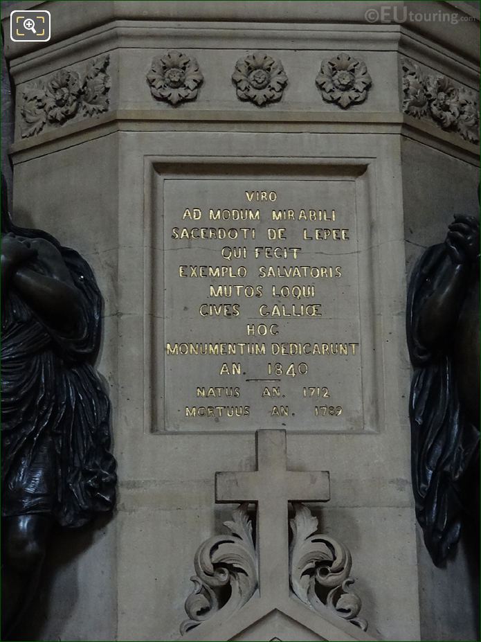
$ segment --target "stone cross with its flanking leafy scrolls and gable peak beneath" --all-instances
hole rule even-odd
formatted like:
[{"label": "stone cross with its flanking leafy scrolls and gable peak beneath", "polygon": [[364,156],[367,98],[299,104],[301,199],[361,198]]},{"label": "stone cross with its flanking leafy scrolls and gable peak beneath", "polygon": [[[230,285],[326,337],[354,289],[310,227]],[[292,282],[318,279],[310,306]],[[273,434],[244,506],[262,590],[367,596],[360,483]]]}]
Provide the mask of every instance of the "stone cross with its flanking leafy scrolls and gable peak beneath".
[{"label": "stone cross with its flanking leafy scrolls and gable peak beneath", "polygon": [[[329,501],[329,472],[288,470],[285,430],[258,430],[256,454],[253,472],[215,474],[216,501],[241,506],[224,522],[226,535],[197,549],[182,641],[233,640],[240,632],[247,632],[242,639],[300,640],[309,631],[309,639],[372,642],[358,617],[361,599],[350,590],[349,549],[317,533],[318,519],[301,503]],[[290,551],[289,501],[299,502]],[[256,546],[250,502],[257,504]]]}]

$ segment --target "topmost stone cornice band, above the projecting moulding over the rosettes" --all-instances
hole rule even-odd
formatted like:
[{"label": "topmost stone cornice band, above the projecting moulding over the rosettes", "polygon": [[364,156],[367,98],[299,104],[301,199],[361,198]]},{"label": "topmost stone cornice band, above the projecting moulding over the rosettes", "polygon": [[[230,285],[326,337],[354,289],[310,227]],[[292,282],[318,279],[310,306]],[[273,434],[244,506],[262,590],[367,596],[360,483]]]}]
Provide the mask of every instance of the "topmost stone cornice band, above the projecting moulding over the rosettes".
[{"label": "topmost stone cornice band, above the projecting moulding over the rosettes", "polygon": [[[18,6],[17,6],[18,4]],[[51,41],[45,44],[31,42],[10,42],[6,39],[6,57],[12,60],[30,51],[48,48],[56,42],[84,33],[102,24],[116,20],[163,21],[174,24],[183,21],[195,21],[198,25],[215,21],[217,26],[226,23],[247,24],[248,28],[256,25],[273,23],[311,24],[312,26],[352,24],[361,28],[370,28],[366,19],[367,10],[387,10],[383,24],[374,20],[374,26],[399,24],[396,17],[401,17],[402,26],[412,33],[417,33],[432,42],[438,42],[449,51],[476,64],[479,60],[479,15],[467,3],[446,1],[387,1],[379,3],[338,0],[336,2],[318,2],[289,0],[283,2],[255,2],[252,10],[246,10],[244,1],[229,2],[188,0],[176,2],[165,0],[138,0],[136,2],[113,0],[96,3],[89,10],[89,3],[82,0],[69,0],[68,11],[64,10],[65,1],[20,2],[2,10],[4,33],[8,33],[8,22],[12,8],[48,8],[52,15],[53,29]],[[409,15],[404,19],[403,12]],[[397,13],[394,13],[397,12]],[[417,20],[418,14],[437,15],[433,20]],[[453,22],[449,17],[457,16]],[[412,16],[412,17],[409,17]],[[245,34],[244,34],[245,35]]]}]

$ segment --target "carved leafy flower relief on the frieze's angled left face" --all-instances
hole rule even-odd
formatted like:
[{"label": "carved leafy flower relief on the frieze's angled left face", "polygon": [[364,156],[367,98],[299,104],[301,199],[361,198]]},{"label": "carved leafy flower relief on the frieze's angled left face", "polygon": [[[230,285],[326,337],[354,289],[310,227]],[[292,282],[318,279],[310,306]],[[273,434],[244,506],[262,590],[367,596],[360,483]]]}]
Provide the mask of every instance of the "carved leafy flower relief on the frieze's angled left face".
[{"label": "carved leafy flower relief on the frieze's angled left face", "polygon": [[76,116],[94,116],[109,109],[110,58],[93,58],[83,73],[60,69],[45,80],[28,84],[21,93],[20,131],[22,138],[58,127]]}]

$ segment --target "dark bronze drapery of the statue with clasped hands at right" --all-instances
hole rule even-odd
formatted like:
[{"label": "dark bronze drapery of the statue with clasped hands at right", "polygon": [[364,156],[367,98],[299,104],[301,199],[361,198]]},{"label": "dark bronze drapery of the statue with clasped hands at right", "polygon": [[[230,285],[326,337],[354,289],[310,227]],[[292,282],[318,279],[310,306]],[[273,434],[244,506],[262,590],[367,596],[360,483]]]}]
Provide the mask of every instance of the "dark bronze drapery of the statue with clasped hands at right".
[{"label": "dark bronze drapery of the statue with clasped hands at right", "polygon": [[[452,269],[445,244],[421,256],[408,291],[407,336],[414,368],[410,393],[411,470],[416,515],[424,542],[436,565],[460,538],[466,505],[466,483],[476,474],[479,431],[463,412],[453,372],[452,345],[430,348],[421,337],[421,310],[447,269]],[[470,490],[467,491],[469,497]],[[471,497],[475,495],[471,489]]]}]

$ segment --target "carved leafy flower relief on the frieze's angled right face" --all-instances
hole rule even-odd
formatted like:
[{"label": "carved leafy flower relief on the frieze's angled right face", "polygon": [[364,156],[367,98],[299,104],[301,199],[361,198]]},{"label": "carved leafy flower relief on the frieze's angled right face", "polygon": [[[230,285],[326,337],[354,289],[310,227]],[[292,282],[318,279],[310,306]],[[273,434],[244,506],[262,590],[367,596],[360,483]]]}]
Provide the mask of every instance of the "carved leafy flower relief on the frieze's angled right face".
[{"label": "carved leafy flower relief on the frieze's angled right face", "polygon": [[428,118],[466,141],[479,142],[479,107],[473,91],[444,75],[424,73],[410,60],[403,60],[402,69],[405,114]]}]

